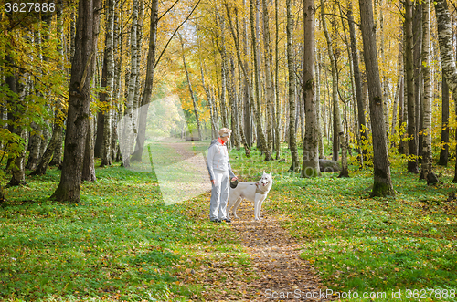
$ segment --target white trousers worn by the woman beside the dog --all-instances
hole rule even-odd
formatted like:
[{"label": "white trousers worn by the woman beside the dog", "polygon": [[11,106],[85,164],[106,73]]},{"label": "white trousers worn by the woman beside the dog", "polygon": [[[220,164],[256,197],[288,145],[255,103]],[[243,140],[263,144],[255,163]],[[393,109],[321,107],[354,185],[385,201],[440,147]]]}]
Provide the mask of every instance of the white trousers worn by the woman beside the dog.
[{"label": "white trousers worn by the woman beside the dog", "polygon": [[228,172],[214,172],[214,184],[209,202],[209,219],[227,218],[228,188],[230,177]]}]

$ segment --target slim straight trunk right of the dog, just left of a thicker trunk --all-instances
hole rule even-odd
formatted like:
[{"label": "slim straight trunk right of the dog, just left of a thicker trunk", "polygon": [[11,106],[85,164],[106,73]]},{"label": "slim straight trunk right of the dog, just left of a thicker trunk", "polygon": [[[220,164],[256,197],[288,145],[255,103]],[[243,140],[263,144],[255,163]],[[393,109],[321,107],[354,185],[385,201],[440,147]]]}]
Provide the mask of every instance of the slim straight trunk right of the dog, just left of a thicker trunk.
[{"label": "slim straight trunk right of the dog, just left of a thicker trunk", "polygon": [[292,12],[291,0],[286,1],[287,7],[287,68],[289,71],[289,148],[291,150],[292,162],[290,172],[299,170],[296,130],[295,130],[295,71],[293,70],[292,57]]}]

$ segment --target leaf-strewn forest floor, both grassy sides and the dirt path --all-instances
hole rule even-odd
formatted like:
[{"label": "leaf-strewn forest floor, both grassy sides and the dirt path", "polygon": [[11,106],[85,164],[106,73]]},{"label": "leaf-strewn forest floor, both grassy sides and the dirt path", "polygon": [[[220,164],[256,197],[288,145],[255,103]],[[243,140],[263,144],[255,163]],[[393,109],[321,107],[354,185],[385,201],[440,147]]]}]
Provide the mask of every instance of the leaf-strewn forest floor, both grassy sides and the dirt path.
[{"label": "leaf-strewn forest floor, both grassy sides and the dirt path", "polygon": [[[178,173],[173,165],[195,161],[207,144],[188,154],[159,146],[154,156]],[[301,179],[287,172],[283,154],[285,161],[262,161],[257,151],[249,159],[230,151],[241,180],[273,173],[260,222],[241,203],[240,220],[210,223],[209,193],[165,203],[160,177],[144,168],[149,161],[143,170],[97,168],[80,204],[48,201],[56,168],[27,176],[0,203],[0,300],[281,301],[291,300],[284,292],[328,288],[385,295],[357,301],[456,301],[453,164],[436,167],[441,183],[429,187],[393,158],[396,197],[369,198],[369,168],[351,166],[347,179]]]}]

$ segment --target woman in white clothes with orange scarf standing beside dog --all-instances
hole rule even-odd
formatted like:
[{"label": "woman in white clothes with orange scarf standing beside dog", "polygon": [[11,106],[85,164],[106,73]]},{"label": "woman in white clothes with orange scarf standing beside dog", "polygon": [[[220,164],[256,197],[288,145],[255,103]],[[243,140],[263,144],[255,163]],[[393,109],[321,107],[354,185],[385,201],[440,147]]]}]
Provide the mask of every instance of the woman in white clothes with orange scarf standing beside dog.
[{"label": "woman in white clothes with orange scarf standing beside dog", "polygon": [[231,171],[228,161],[227,141],[230,140],[231,130],[222,128],[219,130],[218,140],[211,141],[207,150],[207,170],[212,183],[211,201],[209,202],[209,221],[219,223],[227,218],[227,202],[230,178],[232,181],[237,177]]}]

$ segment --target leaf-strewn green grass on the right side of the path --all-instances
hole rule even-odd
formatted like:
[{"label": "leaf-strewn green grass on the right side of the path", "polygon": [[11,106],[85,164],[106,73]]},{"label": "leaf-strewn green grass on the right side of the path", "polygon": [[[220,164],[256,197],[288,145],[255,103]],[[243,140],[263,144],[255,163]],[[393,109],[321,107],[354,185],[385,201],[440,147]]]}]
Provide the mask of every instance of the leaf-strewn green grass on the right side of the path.
[{"label": "leaf-strewn green grass on the right side of the path", "polygon": [[456,300],[457,203],[446,202],[456,192],[453,168],[438,168],[443,183],[429,187],[394,159],[397,196],[369,198],[373,179],[367,170],[352,171],[349,179],[337,178],[337,172],[300,179],[287,172],[288,162],[260,162],[256,152],[244,159],[233,151],[232,157],[238,157],[232,167],[245,178],[258,179],[262,170],[275,173],[265,206],[303,242],[303,259],[327,286],[360,295],[375,291],[392,297],[401,291],[402,298],[431,294],[432,300]]}]

